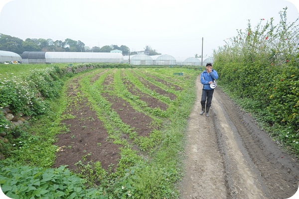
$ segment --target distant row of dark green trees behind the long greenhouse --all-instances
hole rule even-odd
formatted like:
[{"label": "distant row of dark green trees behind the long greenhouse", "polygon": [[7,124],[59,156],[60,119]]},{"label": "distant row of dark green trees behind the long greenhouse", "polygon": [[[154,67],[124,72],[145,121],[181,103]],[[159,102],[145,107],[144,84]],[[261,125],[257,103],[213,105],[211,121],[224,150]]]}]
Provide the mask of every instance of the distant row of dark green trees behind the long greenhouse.
[{"label": "distant row of dark green trees behind the long greenhouse", "polygon": [[[137,54],[136,51],[130,52],[126,45],[104,45],[102,47],[94,46],[91,49],[85,49],[85,44],[78,40],[70,38],[62,40],[52,40],[43,38],[26,38],[24,41],[18,37],[0,33],[0,50],[11,51],[21,55],[24,51],[43,51],[43,52],[110,52],[111,50],[121,50],[123,55]],[[149,55],[158,55],[149,45],[144,48]]]}]

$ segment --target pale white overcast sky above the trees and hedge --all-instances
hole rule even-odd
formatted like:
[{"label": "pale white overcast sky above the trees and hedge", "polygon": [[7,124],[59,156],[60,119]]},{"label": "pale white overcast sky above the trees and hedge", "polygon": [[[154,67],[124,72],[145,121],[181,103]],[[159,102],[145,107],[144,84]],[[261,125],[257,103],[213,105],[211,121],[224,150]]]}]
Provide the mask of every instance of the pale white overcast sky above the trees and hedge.
[{"label": "pale white overcast sky above the trees and hedge", "polygon": [[201,55],[203,37],[209,57],[249,19],[252,27],[261,18],[278,23],[286,6],[294,22],[298,0],[1,0],[0,33],[22,40],[70,38],[89,47],[126,45],[131,51],[149,45],[174,57]]}]

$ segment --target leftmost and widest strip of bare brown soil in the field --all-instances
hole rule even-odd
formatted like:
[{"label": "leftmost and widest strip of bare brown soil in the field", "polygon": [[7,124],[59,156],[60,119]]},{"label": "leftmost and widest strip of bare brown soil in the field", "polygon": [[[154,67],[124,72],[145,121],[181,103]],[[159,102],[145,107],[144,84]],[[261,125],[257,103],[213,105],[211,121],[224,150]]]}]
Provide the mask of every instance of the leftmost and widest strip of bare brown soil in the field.
[{"label": "leftmost and widest strip of bare brown soil in the field", "polygon": [[[81,77],[75,78],[70,83],[67,90],[69,98],[74,99],[80,93],[83,96],[78,83],[80,79]],[[59,147],[59,151],[53,167],[68,165],[70,170],[76,171],[79,166],[75,164],[79,161],[84,164],[99,161],[106,170],[111,165],[117,165],[121,146],[107,141],[107,130],[97,118],[97,113],[91,110],[86,98],[74,100],[75,103],[72,102],[64,113],[74,118],[62,121],[69,128],[69,132],[57,136],[55,145]]]}]

